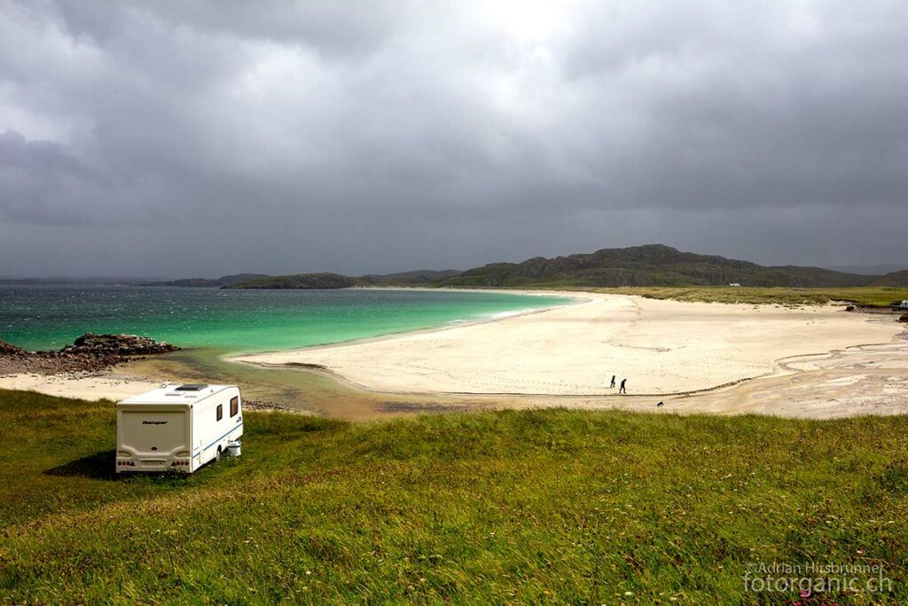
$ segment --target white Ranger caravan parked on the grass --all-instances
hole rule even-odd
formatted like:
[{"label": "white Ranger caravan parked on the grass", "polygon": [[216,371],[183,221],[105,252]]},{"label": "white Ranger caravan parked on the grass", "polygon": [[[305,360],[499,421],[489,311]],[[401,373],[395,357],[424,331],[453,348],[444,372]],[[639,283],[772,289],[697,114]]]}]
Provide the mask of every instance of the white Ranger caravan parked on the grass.
[{"label": "white Ranger caravan parked on the grass", "polygon": [[240,453],[236,385],[163,384],[116,405],[116,471],[192,473]]}]

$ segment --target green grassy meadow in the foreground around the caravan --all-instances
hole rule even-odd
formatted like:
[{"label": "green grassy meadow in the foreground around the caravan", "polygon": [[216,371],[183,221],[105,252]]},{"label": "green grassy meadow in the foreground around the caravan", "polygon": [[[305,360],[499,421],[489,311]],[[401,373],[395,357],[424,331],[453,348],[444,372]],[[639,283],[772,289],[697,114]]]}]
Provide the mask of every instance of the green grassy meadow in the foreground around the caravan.
[{"label": "green grassy meadow in the foreground around the caravan", "polygon": [[0,392],[0,603],[795,603],[745,592],[772,562],[908,602],[908,417],[245,417],[240,460],[118,478],[111,402]]}]

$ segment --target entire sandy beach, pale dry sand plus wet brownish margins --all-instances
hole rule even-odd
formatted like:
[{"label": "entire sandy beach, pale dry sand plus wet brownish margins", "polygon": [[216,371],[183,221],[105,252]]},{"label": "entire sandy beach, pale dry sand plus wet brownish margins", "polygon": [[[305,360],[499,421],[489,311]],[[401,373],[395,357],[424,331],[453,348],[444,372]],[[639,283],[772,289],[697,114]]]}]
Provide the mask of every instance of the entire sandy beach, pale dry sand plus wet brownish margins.
[{"label": "entire sandy beach, pale dry sand plus wet brownish margins", "polygon": [[[241,379],[242,365],[232,372],[228,363],[219,379],[241,382],[247,397],[350,420],[548,406],[810,418],[908,412],[908,340],[891,315],[847,313],[834,305],[561,294],[580,303],[362,342],[235,356],[234,363],[272,373]],[[294,377],[316,376],[300,373],[311,367],[327,382],[298,385]],[[286,372],[273,374],[281,369]],[[618,382],[627,377],[627,395],[609,388],[612,374]],[[211,379],[173,359],[149,360],[103,373],[0,376],[0,389],[118,400],[165,380]]]}]

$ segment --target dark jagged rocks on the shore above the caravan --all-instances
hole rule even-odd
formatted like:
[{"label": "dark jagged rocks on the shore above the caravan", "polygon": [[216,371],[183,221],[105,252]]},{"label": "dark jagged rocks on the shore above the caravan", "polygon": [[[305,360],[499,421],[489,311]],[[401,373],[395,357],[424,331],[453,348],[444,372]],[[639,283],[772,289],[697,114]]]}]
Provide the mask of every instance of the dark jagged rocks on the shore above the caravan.
[{"label": "dark jagged rocks on the shore above the caravan", "polygon": [[0,341],[0,374],[94,373],[145,355],[178,349],[134,334],[85,333],[57,352],[27,352]]}]

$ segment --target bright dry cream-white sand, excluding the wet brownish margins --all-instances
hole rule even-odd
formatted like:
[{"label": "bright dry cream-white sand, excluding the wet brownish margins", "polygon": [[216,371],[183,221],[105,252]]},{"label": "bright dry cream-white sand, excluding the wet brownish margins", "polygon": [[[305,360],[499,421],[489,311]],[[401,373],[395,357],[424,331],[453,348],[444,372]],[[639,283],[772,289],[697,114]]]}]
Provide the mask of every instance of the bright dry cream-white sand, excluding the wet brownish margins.
[{"label": "bright dry cream-white sand, excluding the wet brownish margins", "polygon": [[[577,293],[564,293],[576,296]],[[318,364],[382,392],[597,395],[705,390],[772,373],[776,362],[890,343],[888,316],[841,307],[679,303],[590,294],[587,303],[362,343],[258,353],[246,363]]]}]

